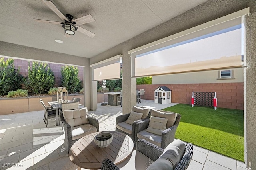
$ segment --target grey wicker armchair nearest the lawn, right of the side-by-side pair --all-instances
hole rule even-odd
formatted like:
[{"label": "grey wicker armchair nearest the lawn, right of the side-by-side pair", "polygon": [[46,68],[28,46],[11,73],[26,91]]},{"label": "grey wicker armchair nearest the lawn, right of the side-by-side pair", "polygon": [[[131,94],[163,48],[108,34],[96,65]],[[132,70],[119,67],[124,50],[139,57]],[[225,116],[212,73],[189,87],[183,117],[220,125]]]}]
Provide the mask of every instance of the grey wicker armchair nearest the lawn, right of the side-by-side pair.
[{"label": "grey wicker armchair nearest the lawn, right of the side-by-side pair", "polygon": [[[170,111],[152,109],[151,116],[155,116],[153,114],[158,111],[162,112],[162,113],[172,113]],[[177,116],[176,116],[174,125],[172,125],[171,127],[166,126],[166,129],[164,131],[162,131],[161,135],[157,135],[157,134],[150,133],[150,132],[146,131],[146,129],[149,126],[150,119],[144,119],[143,121],[136,123],[135,132],[134,132],[135,133],[135,141],[142,138],[142,139],[145,139],[147,141],[154,143],[155,145],[158,145],[161,148],[166,148],[167,145],[169,145],[172,141],[174,141],[175,133],[176,133],[177,127],[180,123],[181,115],[178,113],[176,113],[176,114],[177,114]]]}]

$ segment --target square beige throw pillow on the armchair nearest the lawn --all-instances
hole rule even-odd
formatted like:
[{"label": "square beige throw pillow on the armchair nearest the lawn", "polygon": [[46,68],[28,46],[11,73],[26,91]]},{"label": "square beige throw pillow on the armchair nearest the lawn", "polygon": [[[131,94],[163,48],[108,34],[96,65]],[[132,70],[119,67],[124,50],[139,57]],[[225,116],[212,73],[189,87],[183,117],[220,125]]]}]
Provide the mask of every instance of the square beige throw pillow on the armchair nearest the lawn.
[{"label": "square beige throw pillow on the armchair nearest the lawn", "polygon": [[156,135],[162,135],[162,132],[166,129],[167,118],[160,118],[151,116],[147,132],[154,133]]}]

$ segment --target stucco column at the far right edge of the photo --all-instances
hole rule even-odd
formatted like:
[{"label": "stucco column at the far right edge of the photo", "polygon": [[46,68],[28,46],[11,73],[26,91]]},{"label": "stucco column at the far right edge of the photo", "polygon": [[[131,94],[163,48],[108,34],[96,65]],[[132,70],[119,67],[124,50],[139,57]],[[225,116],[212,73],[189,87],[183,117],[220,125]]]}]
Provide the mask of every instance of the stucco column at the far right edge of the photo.
[{"label": "stucco column at the far right edge of the photo", "polygon": [[244,69],[244,160],[256,169],[256,1],[246,16],[246,66]]}]

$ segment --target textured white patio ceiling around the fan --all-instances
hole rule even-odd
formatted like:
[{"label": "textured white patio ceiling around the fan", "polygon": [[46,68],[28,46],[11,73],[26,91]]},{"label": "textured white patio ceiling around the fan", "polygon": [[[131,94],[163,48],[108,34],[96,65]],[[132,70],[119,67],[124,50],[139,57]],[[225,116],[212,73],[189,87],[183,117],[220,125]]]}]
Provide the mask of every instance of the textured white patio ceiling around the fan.
[{"label": "textured white patio ceiling around the fan", "polygon": [[[148,29],[198,6],[205,0],[53,0],[74,19],[91,14],[95,22],[79,25],[96,34],[78,31],[64,37],[61,25],[38,23],[33,18],[60,21],[40,0],[1,0],[1,41],[91,58]],[[54,40],[62,40],[56,43]]]}]

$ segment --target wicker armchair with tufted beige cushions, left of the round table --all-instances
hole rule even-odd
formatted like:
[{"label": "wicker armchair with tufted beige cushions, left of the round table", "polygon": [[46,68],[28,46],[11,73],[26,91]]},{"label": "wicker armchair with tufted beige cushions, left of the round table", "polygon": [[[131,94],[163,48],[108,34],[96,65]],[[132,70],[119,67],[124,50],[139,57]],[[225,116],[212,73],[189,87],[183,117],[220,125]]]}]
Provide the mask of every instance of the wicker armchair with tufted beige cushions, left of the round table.
[{"label": "wicker armchair with tufted beige cushions, left of the round table", "polygon": [[68,150],[81,137],[99,131],[99,121],[88,115],[86,107],[82,109],[64,110],[60,113],[65,131],[65,147]]}]

